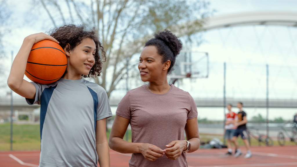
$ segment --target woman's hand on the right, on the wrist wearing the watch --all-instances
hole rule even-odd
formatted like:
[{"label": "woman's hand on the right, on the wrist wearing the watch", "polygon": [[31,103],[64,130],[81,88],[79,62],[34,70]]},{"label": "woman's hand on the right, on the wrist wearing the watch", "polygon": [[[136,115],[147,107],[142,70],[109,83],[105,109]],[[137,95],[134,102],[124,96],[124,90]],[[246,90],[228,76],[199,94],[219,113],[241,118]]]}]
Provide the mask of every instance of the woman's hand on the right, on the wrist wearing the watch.
[{"label": "woman's hand on the right, on the wrist wearing the watch", "polygon": [[166,145],[166,147],[170,148],[164,149],[167,158],[170,160],[176,160],[180,157],[183,150],[187,149],[186,143],[187,142],[183,140],[171,141],[168,145]]}]

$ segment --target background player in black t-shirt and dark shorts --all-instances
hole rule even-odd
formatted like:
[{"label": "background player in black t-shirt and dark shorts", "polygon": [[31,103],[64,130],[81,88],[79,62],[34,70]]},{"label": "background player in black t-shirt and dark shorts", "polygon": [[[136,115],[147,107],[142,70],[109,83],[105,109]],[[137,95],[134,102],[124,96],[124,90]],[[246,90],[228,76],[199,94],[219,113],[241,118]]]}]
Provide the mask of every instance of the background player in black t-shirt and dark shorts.
[{"label": "background player in black t-shirt and dark shorts", "polygon": [[244,145],[245,147],[247,148],[247,154],[245,155],[245,158],[250,158],[252,157],[252,153],[251,153],[251,150],[249,149],[249,141],[247,140],[247,114],[242,111],[242,103],[241,102],[238,102],[237,103],[237,108],[239,108],[239,112],[237,114],[238,116],[238,122],[235,124],[237,125],[237,129],[235,130],[234,134],[233,134],[233,142],[235,144],[235,157],[238,157],[239,155],[241,155],[241,151],[238,147],[238,142],[237,142],[237,137],[238,135],[241,136],[242,138],[242,141],[244,142]]}]

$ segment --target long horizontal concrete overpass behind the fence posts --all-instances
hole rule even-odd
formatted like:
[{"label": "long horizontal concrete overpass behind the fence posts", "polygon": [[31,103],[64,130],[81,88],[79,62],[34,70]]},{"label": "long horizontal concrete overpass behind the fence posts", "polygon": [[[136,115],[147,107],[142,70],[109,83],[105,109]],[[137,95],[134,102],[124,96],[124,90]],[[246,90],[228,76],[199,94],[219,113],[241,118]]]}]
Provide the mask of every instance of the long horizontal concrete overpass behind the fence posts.
[{"label": "long horizontal concrete overpass behind the fence posts", "polygon": [[[197,107],[223,107],[223,98],[194,98]],[[121,97],[111,97],[110,106],[118,106]],[[266,99],[233,99],[227,98],[227,103],[236,106],[238,101],[244,104],[244,107],[266,107]],[[40,105],[28,105],[25,98],[13,99],[13,109],[23,110],[38,108]],[[269,107],[273,108],[297,108],[297,99],[270,99]],[[0,97],[0,111],[10,110],[10,97]]]}]

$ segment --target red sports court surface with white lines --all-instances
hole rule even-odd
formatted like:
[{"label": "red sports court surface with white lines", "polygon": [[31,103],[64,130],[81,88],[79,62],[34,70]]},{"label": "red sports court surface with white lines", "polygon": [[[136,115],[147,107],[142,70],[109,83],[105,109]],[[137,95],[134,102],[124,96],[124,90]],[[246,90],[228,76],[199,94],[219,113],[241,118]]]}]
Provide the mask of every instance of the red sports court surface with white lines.
[{"label": "red sports court surface with white lines", "polygon": [[[252,158],[245,159],[226,156],[227,149],[199,149],[187,153],[189,167],[258,167],[258,166],[297,166],[297,146],[252,147]],[[1,167],[38,167],[39,151],[0,152]],[[121,154],[110,150],[111,167],[128,167],[131,154]]]}]

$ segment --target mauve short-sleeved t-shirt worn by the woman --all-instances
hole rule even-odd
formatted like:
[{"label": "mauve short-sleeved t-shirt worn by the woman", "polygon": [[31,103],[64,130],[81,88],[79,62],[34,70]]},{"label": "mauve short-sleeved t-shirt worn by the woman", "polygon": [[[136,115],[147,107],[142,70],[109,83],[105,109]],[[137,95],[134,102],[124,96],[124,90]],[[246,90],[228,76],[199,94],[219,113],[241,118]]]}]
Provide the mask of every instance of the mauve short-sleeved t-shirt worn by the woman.
[{"label": "mauve short-sleeved t-shirt worn by the woman", "polygon": [[[150,143],[161,149],[171,141],[184,140],[187,119],[195,118],[197,106],[193,97],[173,84],[164,94],[150,92],[146,85],[127,92],[116,114],[130,119],[133,143]],[[141,153],[133,153],[129,167],[187,167],[186,153],[176,160],[166,156],[154,162],[146,160]]]}]

